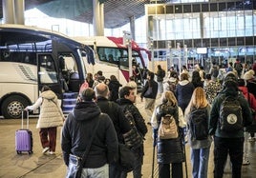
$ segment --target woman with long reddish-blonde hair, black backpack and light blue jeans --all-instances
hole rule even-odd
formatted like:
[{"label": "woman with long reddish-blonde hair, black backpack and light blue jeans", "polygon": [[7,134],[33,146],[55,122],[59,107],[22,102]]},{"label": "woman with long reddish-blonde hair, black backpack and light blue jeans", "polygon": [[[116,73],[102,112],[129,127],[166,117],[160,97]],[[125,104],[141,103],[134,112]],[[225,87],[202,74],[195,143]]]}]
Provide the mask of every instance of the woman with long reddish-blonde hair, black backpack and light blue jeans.
[{"label": "woman with long reddish-blonde hair, black backpack and light blue jeans", "polygon": [[193,178],[206,178],[212,138],[208,134],[210,105],[203,88],[194,90],[185,119],[188,124],[188,143],[191,148]]}]

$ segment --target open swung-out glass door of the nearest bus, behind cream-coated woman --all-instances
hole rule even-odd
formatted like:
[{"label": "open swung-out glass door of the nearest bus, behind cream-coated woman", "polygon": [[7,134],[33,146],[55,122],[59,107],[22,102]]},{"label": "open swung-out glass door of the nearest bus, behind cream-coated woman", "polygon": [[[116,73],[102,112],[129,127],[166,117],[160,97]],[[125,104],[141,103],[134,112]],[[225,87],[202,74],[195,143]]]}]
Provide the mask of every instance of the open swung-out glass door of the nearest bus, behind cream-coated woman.
[{"label": "open swung-out glass door of the nearest bus, behind cream-coated woman", "polygon": [[53,90],[58,99],[62,99],[62,86],[59,82],[58,69],[51,53],[37,54],[37,70],[38,92],[46,85]]}]

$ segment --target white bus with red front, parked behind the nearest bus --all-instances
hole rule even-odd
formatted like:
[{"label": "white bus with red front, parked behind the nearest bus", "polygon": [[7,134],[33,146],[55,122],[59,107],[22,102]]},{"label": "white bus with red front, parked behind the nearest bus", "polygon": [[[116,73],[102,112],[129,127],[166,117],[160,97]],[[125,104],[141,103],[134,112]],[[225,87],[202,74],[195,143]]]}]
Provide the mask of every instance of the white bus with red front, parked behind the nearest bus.
[{"label": "white bus with red front, parked behind the nearest bus", "polygon": [[[129,81],[128,48],[123,45],[122,37],[80,36],[74,37],[74,39],[90,46],[95,51],[96,65],[86,64],[86,70],[88,72],[94,74],[97,70],[102,70],[106,78],[115,75],[122,85],[125,85]],[[135,41],[132,41],[132,60],[133,65],[137,65],[140,73],[139,81],[137,82],[143,84],[141,74],[142,70],[149,65],[151,52],[147,49],[140,48]]]}]

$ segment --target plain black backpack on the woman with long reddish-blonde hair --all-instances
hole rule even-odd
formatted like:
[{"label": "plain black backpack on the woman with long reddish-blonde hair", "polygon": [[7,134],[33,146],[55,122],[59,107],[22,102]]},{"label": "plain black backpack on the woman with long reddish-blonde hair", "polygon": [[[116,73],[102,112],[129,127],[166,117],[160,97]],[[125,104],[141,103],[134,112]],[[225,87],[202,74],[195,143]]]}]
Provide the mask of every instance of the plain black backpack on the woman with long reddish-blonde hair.
[{"label": "plain black backpack on the woman with long reddish-blonde hair", "polygon": [[208,137],[208,113],[207,109],[193,109],[189,115],[188,127],[192,138],[204,140]]}]

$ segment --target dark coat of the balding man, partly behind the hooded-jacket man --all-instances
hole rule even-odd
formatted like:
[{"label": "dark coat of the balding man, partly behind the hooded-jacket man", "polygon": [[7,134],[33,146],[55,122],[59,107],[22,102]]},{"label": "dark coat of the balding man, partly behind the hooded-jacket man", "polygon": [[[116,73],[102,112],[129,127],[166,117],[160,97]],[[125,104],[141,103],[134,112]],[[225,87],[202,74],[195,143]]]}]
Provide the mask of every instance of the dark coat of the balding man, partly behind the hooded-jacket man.
[{"label": "dark coat of the balding man, partly behind the hooded-jacket man", "polygon": [[104,97],[97,97],[97,106],[103,112],[109,115],[113,121],[114,127],[117,132],[117,139],[119,143],[124,143],[123,134],[131,130],[130,123],[125,118],[122,109],[117,103],[109,101]]}]

